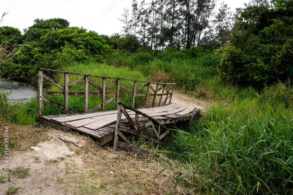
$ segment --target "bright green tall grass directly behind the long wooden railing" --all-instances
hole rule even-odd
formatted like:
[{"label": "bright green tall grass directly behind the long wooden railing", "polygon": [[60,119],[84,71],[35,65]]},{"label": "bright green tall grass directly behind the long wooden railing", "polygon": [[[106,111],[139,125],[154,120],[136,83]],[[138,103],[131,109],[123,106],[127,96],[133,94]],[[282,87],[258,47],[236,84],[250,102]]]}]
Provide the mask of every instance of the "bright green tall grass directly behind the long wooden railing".
[{"label": "bright green tall grass directly behind the long wooden railing", "polygon": [[[99,64],[95,62],[89,63],[71,63],[67,65],[63,65],[60,70],[69,71],[69,72],[76,72],[76,73],[85,73],[91,75],[100,75],[100,76],[110,76],[110,77],[120,77],[120,78],[127,78],[127,79],[134,79],[134,80],[146,80],[145,77],[137,72],[137,71],[130,71],[128,68],[117,68],[105,64]],[[82,75],[69,75],[69,84],[82,78]],[[64,74],[56,75],[57,81],[59,83],[64,82]],[[97,77],[91,77],[91,80],[102,86],[102,79]],[[114,82],[115,79],[106,79],[106,86]],[[121,80],[121,84],[125,85],[126,87],[133,89],[133,81]],[[145,83],[138,82],[137,88],[141,87]],[[62,91],[58,87],[52,86],[50,87],[50,91]],[[84,92],[84,83],[80,83],[69,90],[69,92]],[[92,85],[89,85],[89,92],[97,92],[97,89],[94,88]],[[115,93],[116,88],[115,86],[111,89],[107,90],[107,93]],[[139,93],[146,93],[146,90],[142,90]],[[63,105],[64,103],[64,96],[45,96],[46,98],[60,103]],[[110,99],[111,97],[106,98]],[[106,99],[107,100],[107,99]],[[130,92],[125,91],[124,89],[120,90],[120,102],[125,103],[127,105],[131,105],[132,103],[132,94]],[[143,97],[136,97],[135,107],[141,107],[144,101]],[[97,105],[102,103],[101,97],[99,96],[89,96],[88,98],[88,107],[93,108]],[[37,99],[31,100],[29,103],[26,104],[30,110],[28,113],[30,115],[35,115],[38,112],[38,101]],[[69,96],[69,108],[81,112],[84,112],[84,96]],[[116,103],[115,101],[111,102],[110,104],[106,105],[105,110],[115,110]],[[101,111],[101,109],[97,110]],[[55,106],[50,104],[44,103],[43,106],[43,114],[44,115],[54,115],[54,114],[62,114],[63,110],[59,109]]]}]

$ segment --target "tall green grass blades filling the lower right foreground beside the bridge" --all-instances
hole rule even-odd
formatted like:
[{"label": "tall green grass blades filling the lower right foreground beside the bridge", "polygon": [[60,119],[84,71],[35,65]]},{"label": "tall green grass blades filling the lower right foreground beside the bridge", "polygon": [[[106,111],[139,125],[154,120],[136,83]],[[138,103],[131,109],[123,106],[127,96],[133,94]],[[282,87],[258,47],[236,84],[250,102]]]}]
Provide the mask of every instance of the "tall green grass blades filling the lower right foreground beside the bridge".
[{"label": "tall green grass blades filling the lower right foreground beside the bridge", "polygon": [[211,106],[189,132],[173,131],[167,153],[184,159],[193,178],[179,179],[195,188],[201,182],[204,194],[292,194],[292,110],[244,110],[239,103]]}]

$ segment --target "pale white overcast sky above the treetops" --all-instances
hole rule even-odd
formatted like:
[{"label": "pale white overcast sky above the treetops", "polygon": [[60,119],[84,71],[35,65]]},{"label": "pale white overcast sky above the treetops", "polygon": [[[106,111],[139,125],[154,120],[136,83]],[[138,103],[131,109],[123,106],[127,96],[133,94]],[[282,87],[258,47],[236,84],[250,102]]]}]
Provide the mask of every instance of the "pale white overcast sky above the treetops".
[{"label": "pale white overcast sky above the treetops", "polygon": [[[222,2],[219,0],[217,5]],[[249,0],[224,0],[233,12],[247,2]],[[70,26],[111,35],[121,32],[122,24],[118,18],[121,18],[123,8],[131,8],[131,4],[132,0],[1,0],[1,16],[4,11],[9,13],[0,26],[15,27],[23,32],[34,24],[35,18],[63,18],[69,21]]]}]

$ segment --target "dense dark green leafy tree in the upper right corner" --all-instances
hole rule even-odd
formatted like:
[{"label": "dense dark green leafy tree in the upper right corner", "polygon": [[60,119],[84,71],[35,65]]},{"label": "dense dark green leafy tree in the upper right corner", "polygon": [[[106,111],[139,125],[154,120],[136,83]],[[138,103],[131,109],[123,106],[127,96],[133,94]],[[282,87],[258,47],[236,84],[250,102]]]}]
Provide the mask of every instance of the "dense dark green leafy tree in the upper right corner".
[{"label": "dense dark green leafy tree in the upper right corner", "polygon": [[250,6],[236,23],[218,66],[226,82],[259,85],[293,78],[292,1]]}]

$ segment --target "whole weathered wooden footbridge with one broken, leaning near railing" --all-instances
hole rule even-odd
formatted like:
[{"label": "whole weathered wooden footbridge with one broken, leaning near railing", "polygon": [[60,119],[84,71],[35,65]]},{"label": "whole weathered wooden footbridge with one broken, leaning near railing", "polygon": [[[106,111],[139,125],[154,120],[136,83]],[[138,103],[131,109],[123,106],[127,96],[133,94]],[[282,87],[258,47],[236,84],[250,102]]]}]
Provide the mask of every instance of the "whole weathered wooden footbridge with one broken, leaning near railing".
[{"label": "whole weathered wooden footbridge with one broken, leaning near railing", "polygon": [[[44,72],[62,73],[64,85],[48,77]],[[81,78],[69,84],[70,75],[80,75]],[[62,91],[44,91],[43,79],[59,87]],[[94,79],[96,82],[93,81]],[[82,82],[84,82],[84,92],[72,92],[71,89]],[[122,82],[133,82],[133,88],[126,87]],[[101,87],[97,83],[101,83]],[[94,89],[91,92],[89,84]],[[175,83],[147,82],[38,68],[38,117],[36,121],[40,125],[60,130],[83,132],[95,138],[98,145],[113,141],[114,150],[131,150],[141,154],[139,148],[132,146],[137,136],[157,143],[157,148],[159,145],[166,146],[166,138],[170,130],[163,125],[180,121],[188,121],[188,125],[190,125],[193,117],[200,113],[197,108],[171,103],[175,85]],[[119,103],[120,96],[125,95],[125,92],[120,92],[120,88],[132,94],[131,106]],[[147,88],[146,92],[144,88]],[[44,95],[64,96],[64,105],[47,99]],[[84,113],[69,108],[69,96],[84,96]],[[89,109],[89,96],[100,96],[101,103]],[[150,96],[153,96],[152,100],[149,100]],[[134,108],[136,97],[144,97],[144,108]],[[113,101],[116,102],[116,110],[105,111],[106,105]],[[137,101],[142,102],[142,98]],[[44,116],[43,102],[62,109],[64,113]],[[94,112],[98,109],[101,111]],[[119,138],[125,143],[118,141]]]}]

